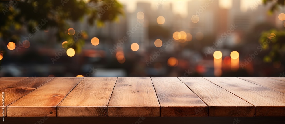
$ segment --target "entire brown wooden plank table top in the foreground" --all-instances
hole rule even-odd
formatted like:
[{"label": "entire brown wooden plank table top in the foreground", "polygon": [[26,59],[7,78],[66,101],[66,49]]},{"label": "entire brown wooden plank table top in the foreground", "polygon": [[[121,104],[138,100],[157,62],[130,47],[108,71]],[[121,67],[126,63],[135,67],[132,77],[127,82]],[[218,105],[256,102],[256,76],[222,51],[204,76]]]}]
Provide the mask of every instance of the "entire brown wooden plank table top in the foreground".
[{"label": "entire brown wooden plank table top in the foreground", "polygon": [[285,116],[283,77],[1,77],[7,117]]}]

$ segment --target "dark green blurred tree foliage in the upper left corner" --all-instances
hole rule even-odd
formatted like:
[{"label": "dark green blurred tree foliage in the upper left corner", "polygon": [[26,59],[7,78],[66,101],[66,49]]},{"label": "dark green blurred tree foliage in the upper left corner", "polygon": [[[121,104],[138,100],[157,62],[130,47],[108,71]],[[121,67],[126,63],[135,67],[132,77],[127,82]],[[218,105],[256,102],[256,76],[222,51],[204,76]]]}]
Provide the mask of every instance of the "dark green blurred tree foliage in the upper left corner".
[{"label": "dark green blurred tree foliage in the upper left corner", "polygon": [[[70,22],[82,21],[87,17],[89,25],[102,26],[106,21],[115,21],[123,14],[123,6],[111,0],[23,0],[0,2],[0,40],[5,43],[18,43],[27,32],[35,34],[38,30],[55,28],[57,41],[73,39],[67,30]],[[47,24],[41,25],[42,20]],[[39,27],[37,27],[39,26]],[[78,30],[75,30],[76,32]],[[87,33],[87,32],[84,32]],[[22,37],[21,37],[22,35]],[[2,42],[1,41],[1,42]],[[79,48],[84,43],[80,37],[73,46]]]}]

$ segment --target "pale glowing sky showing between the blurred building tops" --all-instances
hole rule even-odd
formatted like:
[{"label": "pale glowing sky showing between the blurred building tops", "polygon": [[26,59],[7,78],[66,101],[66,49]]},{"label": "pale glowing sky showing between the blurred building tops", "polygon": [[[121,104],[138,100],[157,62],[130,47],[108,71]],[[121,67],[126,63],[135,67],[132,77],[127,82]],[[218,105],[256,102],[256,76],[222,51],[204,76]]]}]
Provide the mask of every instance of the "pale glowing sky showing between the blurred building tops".
[{"label": "pale glowing sky showing between the blurred building tops", "polygon": [[[137,8],[138,1],[144,0],[119,0],[121,3],[127,6],[128,12],[134,12]],[[145,0],[146,1],[146,0]],[[191,0],[152,0],[152,9],[157,9],[157,4],[163,3],[164,7],[171,2],[173,5],[173,12],[176,14],[180,14],[182,17],[187,16],[187,2]],[[212,1],[212,0],[201,0],[201,1]],[[147,1],[149,2],[149,1]],[[250,9],[251,5],[258,3],[262,3],[262,0],[241,0],[241,11],[246,12],[247,9]],[[220,0],[219,6],[221,8],[229,9],[232,7],[232,0]]]}]

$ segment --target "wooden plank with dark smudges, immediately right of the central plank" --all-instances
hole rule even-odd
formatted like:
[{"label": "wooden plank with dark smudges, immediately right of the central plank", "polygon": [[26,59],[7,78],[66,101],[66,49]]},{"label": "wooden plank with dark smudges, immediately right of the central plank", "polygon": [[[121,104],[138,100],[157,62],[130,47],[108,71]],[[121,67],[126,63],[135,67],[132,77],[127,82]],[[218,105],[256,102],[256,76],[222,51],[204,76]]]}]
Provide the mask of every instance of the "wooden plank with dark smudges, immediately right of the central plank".
[{"label": "wooden plank with dark smudges, immediately right of the central plank", "polygon": [[161,106],[161,117],[209,115],[208,106],[177,77],[151,79]]}]

